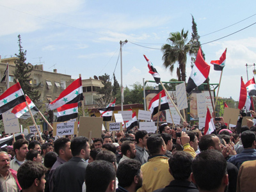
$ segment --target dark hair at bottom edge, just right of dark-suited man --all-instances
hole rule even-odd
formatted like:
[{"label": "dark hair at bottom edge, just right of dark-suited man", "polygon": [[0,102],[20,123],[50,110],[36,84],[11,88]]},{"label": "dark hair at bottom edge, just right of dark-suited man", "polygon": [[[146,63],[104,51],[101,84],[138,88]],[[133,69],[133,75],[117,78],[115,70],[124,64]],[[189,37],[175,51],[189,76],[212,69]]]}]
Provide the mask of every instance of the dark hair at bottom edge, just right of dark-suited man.
[{"label": "dark hair at bottom edge, just right of dark-suited man", "polygon": [[85,172],[86,192],[105,192],[111,180],[115,180],[116,172],[108,161],[93,161]]}]

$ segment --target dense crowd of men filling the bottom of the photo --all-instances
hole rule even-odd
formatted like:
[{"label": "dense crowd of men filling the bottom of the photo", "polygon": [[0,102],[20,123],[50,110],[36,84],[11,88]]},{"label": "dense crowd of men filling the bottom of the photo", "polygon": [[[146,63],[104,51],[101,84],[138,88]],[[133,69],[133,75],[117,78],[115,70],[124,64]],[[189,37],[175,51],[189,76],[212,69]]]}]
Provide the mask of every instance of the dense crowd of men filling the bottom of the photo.
[{"label": "dense crowd of men filling the bottom of the photo", "polygon": [[187,122],[154,133],[102,132],[92,141],[53,141],[44,131],[45,143],[22,138],[1,148],[0,191],[253,191],[256,126],[241,126],[242,118],[231,128],[220,117],[206,135]]}]

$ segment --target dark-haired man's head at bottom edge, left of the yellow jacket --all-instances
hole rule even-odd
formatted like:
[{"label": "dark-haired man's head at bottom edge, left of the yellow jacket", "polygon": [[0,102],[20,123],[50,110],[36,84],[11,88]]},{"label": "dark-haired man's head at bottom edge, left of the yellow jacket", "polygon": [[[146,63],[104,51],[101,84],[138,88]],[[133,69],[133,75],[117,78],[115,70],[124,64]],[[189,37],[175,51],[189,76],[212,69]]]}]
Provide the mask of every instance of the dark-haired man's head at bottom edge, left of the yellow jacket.
[{"label": "dark-haired man's head at bottom edge, left of the yellow jacket", "polygon": [[142,186],[143,175],[141,163],[134,159],[127,159],[118,164],[116,177],[118,189],[116,192],[136,192]]}]

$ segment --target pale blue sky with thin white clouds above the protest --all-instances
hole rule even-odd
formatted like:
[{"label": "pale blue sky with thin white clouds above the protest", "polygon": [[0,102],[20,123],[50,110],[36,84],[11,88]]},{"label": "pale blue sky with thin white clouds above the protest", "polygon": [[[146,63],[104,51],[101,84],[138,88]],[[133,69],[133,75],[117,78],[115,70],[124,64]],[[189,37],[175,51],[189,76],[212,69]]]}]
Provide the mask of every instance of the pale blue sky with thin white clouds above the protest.
[{"label": "pale blue sky with thin white clouds above the protest", "polygon": [[[256,62],[255,7],[256,1],[1,1],[0,55],[8,58],[19,53],[20,34],[27,62],[33,65],[41,62],[44,70],[56,68],[74,79],[79,74],[83,79],[104,73],[112,77],[116,67],[120,83],[120,40],[127,39],[122,52],[124,86],[142,83],[143,77],[154,80],[143,54],[157,68],[161,80],[168,81],[177,78],[176,69],[171,75],[163,67],[161,45],[171,32],[182,28],[191,38],[192,14],[207,63],[218,60],[227,47],[219,96],[238,100],[241,76],[247,82],[245,64]],[[252,70],[248,68],[249,79]],[[187,81],[190,72],[188,58]],[[209,77],[210,83],[219,83],[220,72],[211,66]]]}]

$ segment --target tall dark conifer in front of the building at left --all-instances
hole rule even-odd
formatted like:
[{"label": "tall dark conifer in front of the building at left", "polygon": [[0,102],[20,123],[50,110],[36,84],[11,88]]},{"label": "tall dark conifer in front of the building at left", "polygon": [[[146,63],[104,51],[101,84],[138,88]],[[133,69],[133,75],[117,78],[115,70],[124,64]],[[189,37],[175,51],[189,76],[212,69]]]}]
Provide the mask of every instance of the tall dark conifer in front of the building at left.
[{"label": "tall dark conifer in front of the building at left", "polygon": [[40,99],[40,93],[37,90],[37,88],[40,86],[31,86],[30,82],[31,79],[31,71],[33,70],[33,65],[30,63],[26,63],[26,54],[27,51],[24,51],[21,46],[21,38],[20,35],[18,35],[18,43],[19,43],[19,54],[15,54],[19,60],[15,62],[16,68],[13,72],[15,79],[19,80],[20,86],[24,92],[24,94],[27,94],[33,102],[37,102]]}]

